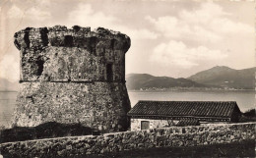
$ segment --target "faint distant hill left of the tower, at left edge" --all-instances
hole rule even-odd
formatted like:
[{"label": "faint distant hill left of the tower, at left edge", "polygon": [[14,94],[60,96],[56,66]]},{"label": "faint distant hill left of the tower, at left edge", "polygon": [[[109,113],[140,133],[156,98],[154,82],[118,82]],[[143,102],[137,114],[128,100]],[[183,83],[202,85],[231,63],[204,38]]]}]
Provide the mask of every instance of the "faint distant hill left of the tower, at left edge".
[{"label": "faint distant hill left of the tower, at left edge", "polygon": [[19,82],[0,78],[0,91],[18,91]]}]

